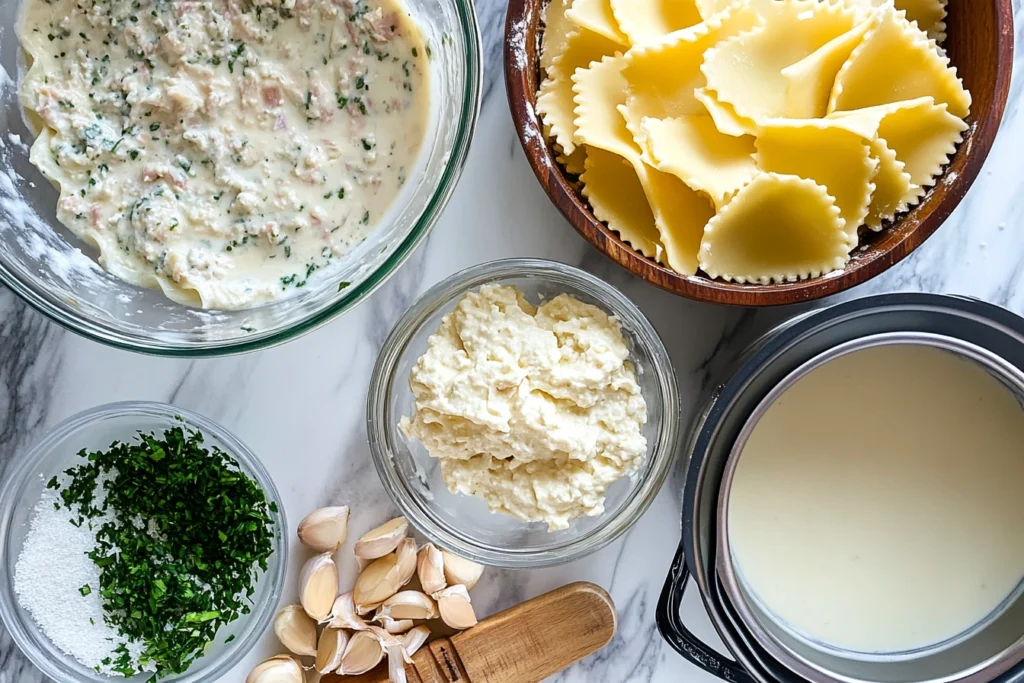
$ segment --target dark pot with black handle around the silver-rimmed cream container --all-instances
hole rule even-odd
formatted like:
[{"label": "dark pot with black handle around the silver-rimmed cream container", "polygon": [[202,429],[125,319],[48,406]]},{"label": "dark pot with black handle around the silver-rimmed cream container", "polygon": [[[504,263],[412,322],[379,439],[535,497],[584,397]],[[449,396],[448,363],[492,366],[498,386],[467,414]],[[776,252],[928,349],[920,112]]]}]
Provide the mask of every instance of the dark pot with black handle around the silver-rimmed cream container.
[{"label": "dark pot with black handle around the silver-rimmed cream container", "polygon": [[[1024,369],[1024,318],[975,299],[933,294],[886,294],[819,309],[770,331],[713,388],[690,426],[683,484],[682,540],[655,612],[657,628],[683,657],[724,681],[806,683],[743,627],[716,572],[717,506],[732,444],[755,408],[790,373],[840,344],[886,333],[923,332],[980,346]],[[680,606],[692,577],[705,607],[735,659],[720,655],[683,624]],[[1024,627],[1022,627],[1024,629]],[[1024,630],[1020,632],[1024,642]],[[1008,653],[991,676],[970,680],[1024,681],[1021,656]],[[970,667],[977,663],[964,663]],[[983,672],[982,672],[983,673]],[[820,680],[820,679],[819,679]],[[928,680],[927,677],[922,680]]]}]

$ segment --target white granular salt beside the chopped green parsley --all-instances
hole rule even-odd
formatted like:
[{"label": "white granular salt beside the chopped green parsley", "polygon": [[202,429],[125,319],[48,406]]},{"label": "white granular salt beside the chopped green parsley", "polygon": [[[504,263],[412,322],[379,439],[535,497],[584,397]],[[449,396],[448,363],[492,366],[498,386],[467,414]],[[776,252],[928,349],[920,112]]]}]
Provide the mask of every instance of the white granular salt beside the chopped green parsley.
[{"label": "white granular salt beside the chopped green parsley", "polygon": [[[103,674],[119,676],[102,660],[125,639],[103,622],[99,567],[87,553],[96,545],[95,529],[106,521],[81,526],[72,511],[56,509],[60,497],[49,488],[33,512],[25,547],[14,567],[14,592],[43,634],[66,654]],[[82,595],[88,586],[88,595]],[[134,649],[134,648],[133,648]]]}]

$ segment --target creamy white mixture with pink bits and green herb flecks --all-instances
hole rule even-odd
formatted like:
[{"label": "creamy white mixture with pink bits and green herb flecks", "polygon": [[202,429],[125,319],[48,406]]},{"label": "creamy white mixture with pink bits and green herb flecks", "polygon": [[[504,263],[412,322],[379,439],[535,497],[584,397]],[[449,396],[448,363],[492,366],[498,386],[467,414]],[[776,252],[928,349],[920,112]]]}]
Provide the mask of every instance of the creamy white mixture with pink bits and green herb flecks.
[{"label": "creamy white mixture with pink bits and green herb flecks", "polygon": [[57,217],[116,275],[240,308],[374,229],[416,164],[429,46],[397,0],[26,0]]}]

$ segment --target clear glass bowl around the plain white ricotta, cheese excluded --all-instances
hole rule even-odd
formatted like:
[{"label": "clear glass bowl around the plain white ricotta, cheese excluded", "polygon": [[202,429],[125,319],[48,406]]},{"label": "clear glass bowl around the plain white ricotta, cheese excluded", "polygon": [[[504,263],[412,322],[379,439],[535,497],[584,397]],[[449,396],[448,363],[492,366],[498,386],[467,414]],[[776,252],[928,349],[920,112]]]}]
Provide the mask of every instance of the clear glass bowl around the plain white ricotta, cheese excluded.
[{"label": "clear glass bowl around the plain white ricotta, cheese excluded", "polygon": [[[633,475],[608,488],[604,512],[548,531],[490,514],[482,501],[449,492],[440,467],[418,440],[398,429],[413,414],[409,374],[462,296],[481,285],[518,287],[537,304],[570,294],[618,318],[630,360],[647,401],[647,458]],[[402,514],[432,542],[458,555],[508,567],[539,567],[579,559],[630,528],[657,495],[679,452],[679,393],[665,345],[640,309],[618,290],[578,268],[540,259],[493,261],[456,273],[430,289],[402,316],[384,343],[370,383],[367,432],[377,473]]]}]

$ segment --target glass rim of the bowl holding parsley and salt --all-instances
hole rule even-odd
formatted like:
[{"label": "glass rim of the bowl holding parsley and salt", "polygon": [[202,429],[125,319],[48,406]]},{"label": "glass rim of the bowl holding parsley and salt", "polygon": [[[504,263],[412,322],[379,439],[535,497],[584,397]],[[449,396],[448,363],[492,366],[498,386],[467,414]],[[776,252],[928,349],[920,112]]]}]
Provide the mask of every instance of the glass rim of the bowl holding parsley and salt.
[{"label": "glass rim of the bowl holding parsley and salt", "polygon": [[[36,443],[24,452],[24,455],[15,455],[15,460],[10,465],[6,481],[0,487],[0,555],[3,554],[7,546],[11,531],[11,522],[17,509],[15,502],[19,497],[16,495],[16,492],[20,490],[25,483],[36,474],[36,465],[51,453],[53,445],[77,430],[94,422],[105,418],[126,415],[151,417],[161,420],[174,420],[174,418],[180,417],[186,426],[198,429],[205,435],[215,436],[223,442],[225,452],[239,463],[242,471],[256,480],[256,483],[263,489],[267,503],[273,503],[278,506],[278,512],[275,513],[278,517],[278,531],[273,535],[273,554],[270,556],[267,562],[267,569],[262,577],[262,580],[268,581],[269,584],[264,599],[256,603],[249,614],[240,617],[251,621],[246,628],[246,633],[227,644],[218,658],[211,657],[208,660],[209,664],[206,666],[200,666],[195,671],[186,671],[186,673],[174,681],[174,683],[201,683],[201,681],[220,676],[230,671],[255,647],[259,639],[263,637],[276,612],[278,603],[281,601],[285,587],[285,578],[288,573],[290,545],[288,519],[281,494],[270,473],[263,466],[262,461],[228,429],[191,411],[170,403],[148,400],[126,400],[104,403],[77,413],[59,422],[47,429]],[[77,678],[78,674],[69,671],[63,658],[54,660],[36,645],[36,638],[45,640],[49,640],[49,638],[36,625],[34,620],[30,618],[28,622],[25,622],[15,615],[18,605],[13,590],[13,572],[4,573],[4,579],[0,581],[0,624],[5,626],[18,649],[43,674],[58,683],[80,683],[80,680]],[[35,637],[30,636],[30,631],[35,634]],[[54,648],[56,649],[55,645]],[[66,654],[65,657],[70,657],[70,655]],[[204,658],[197,659],[197,664],[202,663]],[[99,677],[102,675],[97,674],[96,676]],[[125,680],[112,676],[106,676],[105,679],[111,681]],[[105,679],[97,678],[97,680]]]}]

